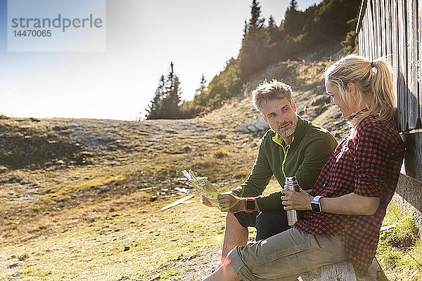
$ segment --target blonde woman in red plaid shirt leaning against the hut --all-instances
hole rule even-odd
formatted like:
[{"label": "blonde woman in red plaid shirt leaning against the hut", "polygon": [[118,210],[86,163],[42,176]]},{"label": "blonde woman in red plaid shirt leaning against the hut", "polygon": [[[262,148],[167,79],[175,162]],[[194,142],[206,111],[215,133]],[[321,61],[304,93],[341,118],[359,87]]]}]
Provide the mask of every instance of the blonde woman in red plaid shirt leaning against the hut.
[{"label": "blonde woman in red plaid shirt leaning against the hut", "polygon": [[352,117],[352,129],[311,194],[284,190],[284,209],[305,210],[305,218],[267,240],[236,247],[205,280],[296,280],[346,259],[357,270],[370,265],[404,158],[391,74],[381,60],[348,55],[325,75],[331,105]]}]

